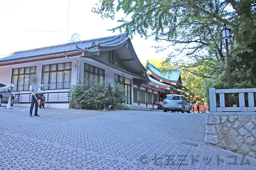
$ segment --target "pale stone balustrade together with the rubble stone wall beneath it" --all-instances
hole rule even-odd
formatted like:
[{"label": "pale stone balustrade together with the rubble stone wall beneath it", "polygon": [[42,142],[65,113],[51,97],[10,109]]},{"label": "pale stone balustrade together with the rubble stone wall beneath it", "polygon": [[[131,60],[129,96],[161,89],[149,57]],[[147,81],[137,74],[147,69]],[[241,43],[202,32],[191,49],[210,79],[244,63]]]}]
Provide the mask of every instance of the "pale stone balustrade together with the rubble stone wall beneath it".
[{"label": "pale stone balustrade together with the rubble stone wall beneath it", "polygon": [[[254,89],[210,88],[210,113],[207,116],[205,143],[256,158],[256,109]],[[216,94],[220,107],[216,107]],[[224,93],[239,93],[239,107],[225,107]],[[248,107],[244,94],[248,93]]]}]

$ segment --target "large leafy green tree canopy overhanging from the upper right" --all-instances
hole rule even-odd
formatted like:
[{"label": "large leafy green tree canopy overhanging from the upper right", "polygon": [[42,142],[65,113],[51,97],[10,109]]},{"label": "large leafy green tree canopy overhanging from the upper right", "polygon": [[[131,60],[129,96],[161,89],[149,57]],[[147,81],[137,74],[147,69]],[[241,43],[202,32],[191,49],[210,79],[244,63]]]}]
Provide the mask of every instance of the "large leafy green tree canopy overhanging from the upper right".
[{"label": "large leafy green tree canopy overhanging from the upper right", "polygon": [[182,55],[174,64],[191,73],[199,67],[195,74],[203,78],[212,78],[226,68],[220,33],[226,23],[232,29],[232,70],[245,71],[255,79],[255,6],[256,1],[252,0],[101,0],[93,12],[113,19],[122,10],[127,17],[120,18],[121,24],[112,31],[154,36],[157,41],[170,43],[177,51],[169,55],[167,62]]}]

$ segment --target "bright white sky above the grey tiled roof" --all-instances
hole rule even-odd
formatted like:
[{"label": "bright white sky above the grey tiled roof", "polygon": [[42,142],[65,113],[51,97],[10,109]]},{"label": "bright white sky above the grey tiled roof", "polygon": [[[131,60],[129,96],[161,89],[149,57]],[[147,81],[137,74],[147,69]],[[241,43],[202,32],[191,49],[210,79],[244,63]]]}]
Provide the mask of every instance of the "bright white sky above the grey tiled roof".
[{"label": "bright white sky above the grey tiled roof", "polygon": [[[0,0],[0,54],[66,43],[67,0]],[[102,19],[92,12],[98,0],[71,0],[69,39],[78,33],[80,40],[120,34],[107,31],[118,26],[122,16]],[[143,63],[150,58],[165,58],[168,51],[156,53],[159,43],[153,38],[135,35],[131,39],[135,52]]]}]

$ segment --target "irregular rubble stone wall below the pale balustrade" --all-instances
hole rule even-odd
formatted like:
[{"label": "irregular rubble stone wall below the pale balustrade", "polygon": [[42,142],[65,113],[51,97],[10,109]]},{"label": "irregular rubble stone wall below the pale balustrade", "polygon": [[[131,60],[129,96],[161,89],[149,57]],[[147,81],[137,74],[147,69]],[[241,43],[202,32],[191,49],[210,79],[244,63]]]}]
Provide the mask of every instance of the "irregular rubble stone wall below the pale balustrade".
[{"label": "irregular rubble stone wall below the pale balustrade", "polygon": [[256,113],[236,116],[210,113],[205,143],[256,158]]}]

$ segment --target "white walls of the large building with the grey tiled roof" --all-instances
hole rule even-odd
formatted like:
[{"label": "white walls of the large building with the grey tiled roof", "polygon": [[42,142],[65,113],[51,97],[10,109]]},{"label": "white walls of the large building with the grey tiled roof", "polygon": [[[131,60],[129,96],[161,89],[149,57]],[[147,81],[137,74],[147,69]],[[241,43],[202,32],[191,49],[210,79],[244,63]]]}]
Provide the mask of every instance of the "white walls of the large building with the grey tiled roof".
[{"label": "white walls of the large building with the grey tiled roof", "polygon": [[[76,84],[78,82],[78,79],[83,81],[83,79],[84,79],[84,63],[88,63],[90,65],[104,69],[106,82],[114,82],[114,74],[118,74],[118,75],[121,75],[121,76],[131,79],[131,103],[133,104],[133,81],[132,80],[133,80],[134,76],[131,76],[122,71],[113,69],[112,67],[106,66],[104,64],[98,63],[97,61],[94,61],[92,59],[82,58],[79,56],[1,66],[0,73],[2,73],[2,74],[0,75],[0,83],[3,83],[7,86],[9,84],[11,84],[12,69],[22,68],[22,67],[31,67],[31,66],[36,66],[36,76],[38,78],[38,81],[42,82],[42,66],[43,65],[71,62],[70,60],[72,61],[71,84]],[[68,92],[68,91],[69,91],[69,89],[55,89],[55,90],[47,90],[46,92],[50,93],[50,92]],[[30,92],[29,91],[20,91],[20,92],[12,92],[12,93],[13,94],[18,94],[18,93],[28,94]],[[15,106],[30,106],[30,104],[16,104],[15,103]],[[47,103],[46,107],[69,108],[69,104],[68,103]]]}]

